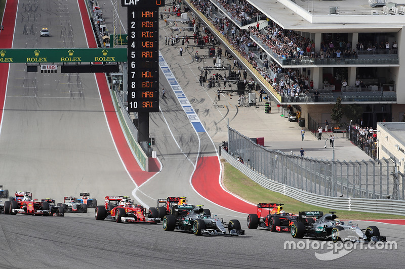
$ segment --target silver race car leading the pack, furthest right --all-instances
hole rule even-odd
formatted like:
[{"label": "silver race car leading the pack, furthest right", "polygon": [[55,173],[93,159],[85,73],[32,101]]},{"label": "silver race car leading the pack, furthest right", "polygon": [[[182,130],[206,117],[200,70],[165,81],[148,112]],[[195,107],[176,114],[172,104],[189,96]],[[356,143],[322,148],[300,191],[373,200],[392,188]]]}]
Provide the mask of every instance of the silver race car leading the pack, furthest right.
[{"label": "silver race car leading the pack, furthest right", "polygon": [[298,219],[306,219],[306,222],[295,222],[291,226],[293,238],[304,236],[330,239],[336,241],[351,242],[378,242],[386,241],[385,236],[380,236],[380,230],[376,226],[360,229],[356,224],[349,222],[345,225],[337,220],[336,211],[330,211],[323,215],[321,211],[305,211],[298,213]]}]

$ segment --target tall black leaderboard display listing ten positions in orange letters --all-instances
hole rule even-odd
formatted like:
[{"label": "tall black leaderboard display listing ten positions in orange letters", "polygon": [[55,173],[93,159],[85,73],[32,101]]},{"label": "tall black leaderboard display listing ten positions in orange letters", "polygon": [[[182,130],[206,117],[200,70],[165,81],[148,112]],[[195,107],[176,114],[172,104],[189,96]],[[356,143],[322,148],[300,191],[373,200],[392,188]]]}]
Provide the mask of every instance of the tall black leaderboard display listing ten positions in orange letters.
[{"label": "tall black leaderboard display listing ten positions in orange letters", "polygon": [[128,112],[159,111],[160,0],[122,0],[128,7]]}]

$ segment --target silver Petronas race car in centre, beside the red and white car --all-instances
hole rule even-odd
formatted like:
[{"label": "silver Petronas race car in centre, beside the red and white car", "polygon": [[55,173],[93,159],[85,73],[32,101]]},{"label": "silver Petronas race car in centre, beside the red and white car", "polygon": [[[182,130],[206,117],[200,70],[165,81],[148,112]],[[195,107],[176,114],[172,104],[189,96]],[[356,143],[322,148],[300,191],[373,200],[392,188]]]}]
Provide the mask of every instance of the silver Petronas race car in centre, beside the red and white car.
[{"label": "silver Petronas race car in centre, beside the red and white car", "polygon": [[[192,232],[194,235],[244,235],[245,230],[240,229],[238,220],[230,220],[224,223],[222,218],[211,217],[209,209],[202,208],[203,205],[174,205],[173,214],[163,218],[163,229],[174,231],[175,229]],[[228,228],[229,233],[226,233]]]}]

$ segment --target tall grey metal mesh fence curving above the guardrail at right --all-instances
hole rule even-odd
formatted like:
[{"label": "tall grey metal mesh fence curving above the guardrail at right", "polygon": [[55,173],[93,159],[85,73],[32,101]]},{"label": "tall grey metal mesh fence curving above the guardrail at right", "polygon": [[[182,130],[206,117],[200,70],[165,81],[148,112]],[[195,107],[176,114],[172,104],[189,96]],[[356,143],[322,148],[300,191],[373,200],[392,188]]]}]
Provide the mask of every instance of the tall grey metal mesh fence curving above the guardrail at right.
[{"label": "tall grey metal mesh fence curving above the guardrail at right", "polygon": [[263,177],[310,193],[404,200],[405,176],[391,160],[338,162],[266,149],[228,127],[228,153]]}]

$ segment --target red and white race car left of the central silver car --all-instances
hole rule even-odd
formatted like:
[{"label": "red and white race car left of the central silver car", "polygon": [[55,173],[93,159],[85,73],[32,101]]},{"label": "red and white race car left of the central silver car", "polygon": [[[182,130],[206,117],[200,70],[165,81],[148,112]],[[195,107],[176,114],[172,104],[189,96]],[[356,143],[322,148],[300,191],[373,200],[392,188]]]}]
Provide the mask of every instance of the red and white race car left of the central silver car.
[{"label": "red and white race car left of the central silver car", "polygon": [[129,196],[105,196],[104,205],[98,205],[94,211],[94,217],[98,221],[104,219],[114,220],[117,223],[160,223],[156,208],[149,208],[146,213],[145,207],[137,205]]}]

